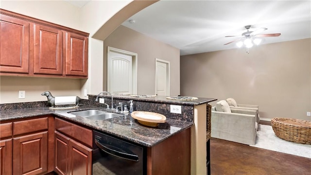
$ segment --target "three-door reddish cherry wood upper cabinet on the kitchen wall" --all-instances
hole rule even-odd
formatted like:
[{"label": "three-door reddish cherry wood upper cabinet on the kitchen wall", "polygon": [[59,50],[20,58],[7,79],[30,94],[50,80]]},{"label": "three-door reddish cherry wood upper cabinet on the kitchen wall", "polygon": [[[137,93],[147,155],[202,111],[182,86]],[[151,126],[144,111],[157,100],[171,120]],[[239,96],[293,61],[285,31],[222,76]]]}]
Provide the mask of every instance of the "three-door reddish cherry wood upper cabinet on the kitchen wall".
[{"label": "three-door reddish cherry wood upper cabinet on the kitchen wall", "polygon": [[0,75],[87,78],[88,33],[0,9]]}]

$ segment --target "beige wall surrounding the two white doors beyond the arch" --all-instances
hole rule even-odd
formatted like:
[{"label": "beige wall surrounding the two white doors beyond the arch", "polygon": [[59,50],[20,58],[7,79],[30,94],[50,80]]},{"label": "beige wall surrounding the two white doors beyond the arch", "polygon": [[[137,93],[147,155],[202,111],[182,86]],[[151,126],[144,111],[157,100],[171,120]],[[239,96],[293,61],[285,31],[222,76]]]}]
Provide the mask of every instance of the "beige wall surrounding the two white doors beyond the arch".
[{"label": "beige wall surrounding the two white doors beyond the arch", "polygon": [[[155,94],[155,58],[170,62],[170,95],[180,94],[179,49],[122,25],[104,40],[105,65],[107,46],[138,53],[138,94]],[[104,82],[106,82],[106,73],[107,70],[104,69]]]}]

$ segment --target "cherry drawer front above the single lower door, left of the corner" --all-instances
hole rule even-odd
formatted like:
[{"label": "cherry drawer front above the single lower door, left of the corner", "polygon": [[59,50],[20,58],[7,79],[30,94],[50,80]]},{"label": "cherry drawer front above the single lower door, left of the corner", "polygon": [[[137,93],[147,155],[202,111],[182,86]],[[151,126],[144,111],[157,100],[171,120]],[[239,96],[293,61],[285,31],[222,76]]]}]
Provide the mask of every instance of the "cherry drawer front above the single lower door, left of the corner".
[{"label": "cherry drawer front above the single lower door, left of the corner", "polygon": [[13,122],[13,135],[26,134],[48,129],[48,118]]}]

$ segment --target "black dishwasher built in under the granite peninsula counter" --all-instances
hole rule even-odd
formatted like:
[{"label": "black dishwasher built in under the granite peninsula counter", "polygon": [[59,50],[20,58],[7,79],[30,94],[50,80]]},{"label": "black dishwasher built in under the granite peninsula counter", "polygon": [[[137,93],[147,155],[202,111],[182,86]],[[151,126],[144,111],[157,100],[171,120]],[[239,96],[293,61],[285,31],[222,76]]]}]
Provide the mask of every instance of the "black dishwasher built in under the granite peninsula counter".
[{"label": "black dishwasher built in under the granite peninsula counter", "polygon": [[92,175],[145,175],[145,148],[93,131]]}]

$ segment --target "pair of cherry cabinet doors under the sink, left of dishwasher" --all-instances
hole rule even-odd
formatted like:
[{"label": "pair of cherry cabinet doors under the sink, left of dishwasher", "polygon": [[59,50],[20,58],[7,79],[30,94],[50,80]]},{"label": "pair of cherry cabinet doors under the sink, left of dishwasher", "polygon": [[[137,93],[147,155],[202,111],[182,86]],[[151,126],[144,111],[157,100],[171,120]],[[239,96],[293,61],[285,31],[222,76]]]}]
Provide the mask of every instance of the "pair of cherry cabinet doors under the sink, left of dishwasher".
[{"label": "pair of cherry cabinet doors under the sink, left of dishwasher", "polygon": [[92,149],[57,131],[55,155],[58,175],[92,175]]}]

